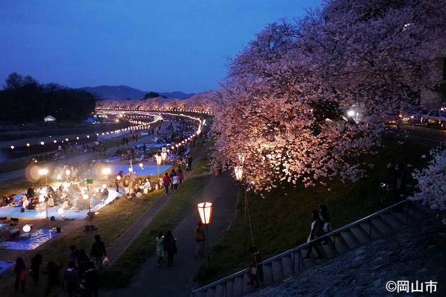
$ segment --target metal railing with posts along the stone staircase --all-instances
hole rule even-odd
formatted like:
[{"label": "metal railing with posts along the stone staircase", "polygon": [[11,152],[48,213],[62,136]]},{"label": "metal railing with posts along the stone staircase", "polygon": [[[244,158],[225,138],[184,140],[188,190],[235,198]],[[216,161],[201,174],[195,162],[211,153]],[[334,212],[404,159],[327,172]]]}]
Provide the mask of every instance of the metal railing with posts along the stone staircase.
[{"label": "metal railing with posts along the stone staircase", "polygon": [[[409,217],[411,216],[412,218],[415,218],[415,207],[413,206],[413,201],[412,200],[403,200],[401,202],[395,203],[390,205],[390,207],[385,207],[384,209],[380,209],[379,211],[376,211],[374,214],[370,214],[369,216],[366,216],[364,218],[361,218],[360,220],[356,220],[353,223],[349,223],[348,225],[345,225],[343,227],[338,228],[337,230],[333,230],[332,232],[329,232],[327,234],[324,234],[323,236],[318,237],[317,239],[314,239],[312,241],[309,241],[307,243],[303,243],[300,246],[297,246],[295,248],[291,248],[290,250],[286,250],[284,252],[281,252],[278,255],[275,255],[273,257],[270,257],[268,259],[263,260],[261,263],[257,264],[262,265],[262,266],[266,266],[269,264],[272,264],[272,262],[277,261],[277,260],[282,260],[285,257],[288,257],[291,259],[291,274],[283,276],[280,280],[284,280],[285,278],[289,278],[291,275],[295,275],[295,273],[299,273],[300,271],[302,271],[303,269],[300,269],[300,267],[302,266],[302,254],[301,254],[301,250],[303,248],[307,248],[310,244],[317,244],[321,241],[324,240],[328,240],[330,239],[330,237],[333,237],[333,245],[336,244],[336,237],[341,233],[341,232],[346,232],[348,231],[351,227],[355,227],[357,225],[359,225],[360,223],[369,223],[369,238],[371,239],[371,229],[372,229],[372,222],[371,220],[373,220],[374,218],[385,214],[387,211],[391,211],[392,209],[395,209],[396,207],[402,207],[403,205],[406,205],[406,218],[405,218],[405,225],[408,225],[408,221],[409,221]],[[412,214],[410,214],[409,211],[409,207],[412,206]],[[331,239],[330,239],[331,240]],[[355,247],[357,248],[357,247]],[[353,250],[353,248],[351,248],[351,250]],[[296,257],[295,254],[298,254],[297,257],[297,264],[296,264]],[[335,257],[335,256],[334,256]],[[206,294],[206,291],[208,289],[212,289],[212,288],[217,288],[218,285],[224,285],[224,296],[228,296],[227,295],[227,282],[230,280],[234,280],[234,285],[235,285],[235,280],[236,278],[243,278],[245,273],[249,273],[249,269],[250,268],[245,268],[241,271],[238,271],[236,273],[233,273],[231,275],[226,276],[225,278],[222,278],[220,280],[217,280],[215,282],[211,282],[210,284],[207,284],[204,287],[200,287],[199,289],[195,289],[192,291],[192,296],[198,296],[199,294]],[[277,282],[279,280],[276,280],[273,282]],[[242,288],[243,291],[243,288]],[[242,293],[243,295],[243,293]]]}]

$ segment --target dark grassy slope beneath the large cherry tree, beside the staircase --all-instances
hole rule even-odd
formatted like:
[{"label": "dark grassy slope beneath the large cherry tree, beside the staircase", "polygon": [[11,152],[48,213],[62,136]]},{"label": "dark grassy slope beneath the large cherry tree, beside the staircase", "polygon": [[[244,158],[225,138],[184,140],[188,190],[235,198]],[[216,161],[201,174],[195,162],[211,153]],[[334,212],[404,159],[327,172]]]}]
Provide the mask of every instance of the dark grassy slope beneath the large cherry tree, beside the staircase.
[{"label": "dark grassy slope beneath the large cherry tree, beside the staircase", "polygon": [[[391,184],[393,180],[387,163],[411,164],[412,167],[406,168],[407,177],[410,177],[413,168],[425,165],[426,159],[421,159],[420,156],[427,154],[428,150],[427,147],[416,143],[406,142],[400,145],[397,141],[385,141],[385,147],[382,147],[378,154],[362,160],[375,164],[374,168],[367,172],[369,177],[355,183],[343,183],[334,179],[328,183],[328,187],[285,186],[268,193],[264,199],[248,194],[254,243],[263,259],[304,243],[309,233],[311,211],[318,209],[321,204],[328,207],[333,228],[351,223],[392,204],[391,193],[384,193],[385,201],[380,203],[380,182]],[[410,179],[409,184],[413,184]],[[328,188],[331,191],[328,191]],[[240,194],[243,198],[244,194]],[[241,200],[240,204],[243,204],[243,199]],[[244,228],[243,205],[238,207],[238,216],[231,228],[212,250],[213,268],[208,270],[201,267],[197,271],[196,279],[201,284],[239,271],[249,263],[248,250],[251,239],[249,230]]]}]

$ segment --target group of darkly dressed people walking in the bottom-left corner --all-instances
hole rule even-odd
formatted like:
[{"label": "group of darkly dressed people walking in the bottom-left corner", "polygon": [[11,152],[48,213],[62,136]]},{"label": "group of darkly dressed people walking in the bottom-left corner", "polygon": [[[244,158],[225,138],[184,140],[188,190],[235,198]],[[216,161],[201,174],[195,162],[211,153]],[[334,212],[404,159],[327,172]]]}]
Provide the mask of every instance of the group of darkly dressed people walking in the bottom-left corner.
[{"label": "group of darkly dressed people walking in the bottom-left corner", "polygon": [[[108,264],[105,244],[101,241],[100,235],[95,235],[95,240],[91,245],[90,254],[86,250],[78,250],[76,246],[70,246],[67,255],[68,268],[63,273],[61,279],[62,266],[54,261],[47,262],[47,266],[42,270],[43,275],[47,275],[45,296],[48,296],[54,287],[65,289],[68,296],[95,296],[99,295],[99,271]],[[37,253],[32,257],[30,268],[26,267],[24,259],[18,257],[15,261],[15,282],[16,291],[24,293],[26,282],[29,276],[32,277],[35,286],[40,284],[40,266],[43,265],[43,256]]]}]

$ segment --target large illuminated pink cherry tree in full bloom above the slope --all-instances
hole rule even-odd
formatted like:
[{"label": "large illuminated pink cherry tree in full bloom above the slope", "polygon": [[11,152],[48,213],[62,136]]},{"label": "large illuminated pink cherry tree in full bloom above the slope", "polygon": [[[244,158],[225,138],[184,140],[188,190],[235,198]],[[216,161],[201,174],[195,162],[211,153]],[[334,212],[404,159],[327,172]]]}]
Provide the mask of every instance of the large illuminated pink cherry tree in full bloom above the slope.
[{"label": "large illuminated pink cherry tree in full bloom above the slope", "polygon": [[[244,172],[257,191],[278,181],[355,181],[380,144],[382,116],[417,104],[441,81],[445,1],[333,0],[270,24],[231,62],[213,94],[213,163]],[[347,115],[350,115],[348,117]]]}]

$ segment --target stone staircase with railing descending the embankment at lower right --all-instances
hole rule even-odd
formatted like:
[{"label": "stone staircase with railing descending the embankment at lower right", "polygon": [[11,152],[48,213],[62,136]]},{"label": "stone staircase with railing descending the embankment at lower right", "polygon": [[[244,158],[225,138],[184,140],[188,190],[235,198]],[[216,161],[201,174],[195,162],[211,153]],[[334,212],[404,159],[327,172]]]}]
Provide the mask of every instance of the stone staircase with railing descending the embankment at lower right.
[{"label": "stone staircase with railing descending the embankment at lower right", "polygon": [[[371,241],[389,236],[403,229],[410,223],[433,216],[434,211],[419,202],[404,200],[374,214],[350,223],[312,241],[319,247],[324,259],[304,259],[308,243],[282,252],[261,262],[263,282],[261,287],[268,287],[282,282],[301,271],[354,250]],[[321,244],[325,241],[324,244]],[[316,256],[316,252],[312,251]],[[192,291],[193,297],[238,297],[252,294],[256,290],[249,282],[249,270],[233,273],[221,280]]]}]

